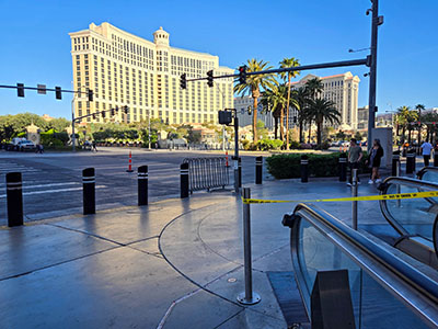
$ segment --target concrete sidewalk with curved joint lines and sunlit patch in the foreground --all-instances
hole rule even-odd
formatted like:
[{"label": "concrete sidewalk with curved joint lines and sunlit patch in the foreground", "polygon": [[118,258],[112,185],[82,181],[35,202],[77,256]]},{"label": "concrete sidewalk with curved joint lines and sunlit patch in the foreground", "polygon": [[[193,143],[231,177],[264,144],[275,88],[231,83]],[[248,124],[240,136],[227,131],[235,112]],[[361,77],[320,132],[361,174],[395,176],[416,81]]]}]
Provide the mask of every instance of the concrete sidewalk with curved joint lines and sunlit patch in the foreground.
[{"label": "concrete sidewalk with curved joint lines and sunlit patch in the foreground", "polygon": [[[258,198],[349,196],[336,180],[251,185]],[[359,195],[377,194],[364,182]],[[296,203],[251,206],[253,286],[244,307],[242,202],[230,191],[0,229],[0,328],[286,328],[267,277],[291,271],[283,215]],[[350,203],[320,206],[346,223]],[[378,202],[359,224],[382,224]]]}]

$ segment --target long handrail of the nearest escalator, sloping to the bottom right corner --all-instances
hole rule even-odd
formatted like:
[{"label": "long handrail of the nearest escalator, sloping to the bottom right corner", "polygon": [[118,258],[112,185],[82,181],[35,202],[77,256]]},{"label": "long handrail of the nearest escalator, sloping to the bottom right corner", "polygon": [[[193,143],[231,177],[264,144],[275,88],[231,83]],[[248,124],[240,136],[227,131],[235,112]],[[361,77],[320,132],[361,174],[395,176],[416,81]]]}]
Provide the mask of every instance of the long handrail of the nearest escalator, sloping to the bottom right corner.
[{"label": "long handrail of the nearest escalator, sloping to the bottom right corner", "polygon": [[[322,227],[330,231],[328,235],[325,234],[324,236],[330,239],[331,242],[344,249],[360,268],[366,270],[383,285],[387,285],[389,291],[392,291],[393,294],[396,294],[400,298],[405,300],[406,304],[425,319],[438,326],[438,282],[431,280],[425,273],[391,253],[387,248],[368,239],[359,231],[354,230],[318,206],[300,203],[296,206],[293,214],[298,215],[298,217],[293,223],[291,234],[297,234],[297,228],[302,217],[308,219],[308,222],[320,231],[321,228],[319,226],[322,225]],[[338,241],[339,239],[342,241],[341,245]],[[298,239],[296,237],[293,243],[297,243],[297,241]],[[351,250],[360,250],[366,259],[357,254],[355,257],[355,252]],[[297,247],[292,246],[296,273],[299,271],[299,268],[297,268],[298,257]],[[391,279],[393,276],[397,279],[397,282]],[[403,284],[403,292],[395,288],[396,285],[400,286],[400,283]],[[429,305],[430,308],[425,307],[425,303]]]}]

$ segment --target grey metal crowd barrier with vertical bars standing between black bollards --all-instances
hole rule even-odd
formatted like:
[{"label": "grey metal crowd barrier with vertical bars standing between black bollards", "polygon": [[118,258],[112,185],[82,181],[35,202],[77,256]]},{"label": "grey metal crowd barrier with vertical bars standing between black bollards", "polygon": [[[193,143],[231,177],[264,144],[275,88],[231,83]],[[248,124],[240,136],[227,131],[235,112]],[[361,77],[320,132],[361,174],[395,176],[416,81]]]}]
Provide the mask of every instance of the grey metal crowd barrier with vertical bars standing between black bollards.
[{"label": "grey metal crowd barrier with vertical bars standing between black bollards", "polygon": [[188,178],[191,193],[214,188],[222,188],[230,183],[228,167],[224,157],[186,158],[183,163],[188,163]]}]

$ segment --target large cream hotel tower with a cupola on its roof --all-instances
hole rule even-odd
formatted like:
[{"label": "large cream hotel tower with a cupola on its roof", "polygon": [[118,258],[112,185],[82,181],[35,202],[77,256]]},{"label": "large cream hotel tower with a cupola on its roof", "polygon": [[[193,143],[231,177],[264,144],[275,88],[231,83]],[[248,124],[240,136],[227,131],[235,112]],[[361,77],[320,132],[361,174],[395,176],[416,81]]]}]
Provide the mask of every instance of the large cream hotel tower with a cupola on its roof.
[{"label": "large cream hotel tower with a cupola on its roof", "polygon": [[[232,78],[188,81],[180,87],[180,77],[206,78],[207,71],[222,76],[234,70],[219,66],[219,57],[171,47],[162,27],[153,33],[153,43],[119,30],[110,23],[91,23],[88,30],[73,32],[71,56],[76,90],[74,115],[119,109],[114,116],[106,112],[83,122],[139,122],[161,118],[169,124],[218,122],[218,111],[232,107]],[[85,91],[94,92],[92,102]],[[128,114],[122,107],[128,106]]]}]

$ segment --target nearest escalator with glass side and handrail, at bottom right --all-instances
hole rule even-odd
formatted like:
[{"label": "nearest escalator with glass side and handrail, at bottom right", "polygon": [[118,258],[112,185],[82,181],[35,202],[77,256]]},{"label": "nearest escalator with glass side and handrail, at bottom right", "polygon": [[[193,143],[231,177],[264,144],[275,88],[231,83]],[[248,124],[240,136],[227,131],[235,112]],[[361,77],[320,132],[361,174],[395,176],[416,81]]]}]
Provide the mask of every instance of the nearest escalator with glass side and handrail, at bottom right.
[{"label": "nearest escalator with glass side and handrail, at bottom right", "polygon": [[[312,302],[316,277],[346,270],[354,328],[438,328],[435,270],[406,262],[400,250],[313,205],[297,205],[284,225],[290,227],[295,277],[313,325],[322,314]],[[330,315],[335,321],[346,311],[342,304],[336,303],[338,314]]]}]

